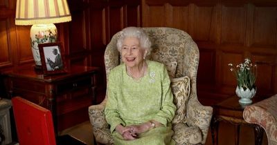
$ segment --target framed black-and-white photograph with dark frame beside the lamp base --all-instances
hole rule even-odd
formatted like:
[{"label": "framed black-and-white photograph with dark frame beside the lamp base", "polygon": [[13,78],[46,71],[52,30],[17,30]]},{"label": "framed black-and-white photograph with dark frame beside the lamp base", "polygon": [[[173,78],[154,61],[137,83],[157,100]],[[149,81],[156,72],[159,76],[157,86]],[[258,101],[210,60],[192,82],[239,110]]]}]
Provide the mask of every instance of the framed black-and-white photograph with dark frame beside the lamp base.
[{"label": "framed black-and-white photograph with dark frame beside the lamp base", "polygon": [[40,43],[39,55],[42,61],[44,75],[52,75],[66,72],[62,43]]}]

